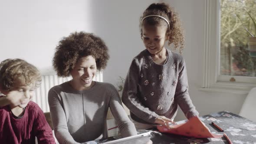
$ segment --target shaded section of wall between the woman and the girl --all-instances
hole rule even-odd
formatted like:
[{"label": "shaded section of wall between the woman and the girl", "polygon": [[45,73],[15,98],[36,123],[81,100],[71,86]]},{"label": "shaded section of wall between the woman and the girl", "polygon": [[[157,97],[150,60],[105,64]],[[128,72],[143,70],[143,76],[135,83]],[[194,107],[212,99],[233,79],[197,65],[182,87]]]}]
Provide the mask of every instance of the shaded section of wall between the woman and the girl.
[{"label": "shaded section of wall between the woman and the girl", "polygon": [[[144,9],[157,0],[91,0],[93,33],[107,44],[110,59],[104,82],[114,85],[125,78],[133,57],[144,50],[139,18]],[[102,6],[102,7],[98,7]]]}]

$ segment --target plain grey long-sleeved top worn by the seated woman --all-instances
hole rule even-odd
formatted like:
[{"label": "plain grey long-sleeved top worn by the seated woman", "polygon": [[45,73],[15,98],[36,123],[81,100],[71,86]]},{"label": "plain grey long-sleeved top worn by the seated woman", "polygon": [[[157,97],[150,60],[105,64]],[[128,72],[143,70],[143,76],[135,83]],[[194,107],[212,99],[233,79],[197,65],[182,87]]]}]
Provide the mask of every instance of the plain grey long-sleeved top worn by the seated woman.
[{"label": "plain grey long-sleeved top worn by the seated woman", "polygon": [[78,91],[68,83],[49,90],[48,101],[54,133],[60,144],[78,144],[100,137],[111,109],[122,137],[136,135],[134,124],[121,105],[115,87],[95,82],[89,90]]}]

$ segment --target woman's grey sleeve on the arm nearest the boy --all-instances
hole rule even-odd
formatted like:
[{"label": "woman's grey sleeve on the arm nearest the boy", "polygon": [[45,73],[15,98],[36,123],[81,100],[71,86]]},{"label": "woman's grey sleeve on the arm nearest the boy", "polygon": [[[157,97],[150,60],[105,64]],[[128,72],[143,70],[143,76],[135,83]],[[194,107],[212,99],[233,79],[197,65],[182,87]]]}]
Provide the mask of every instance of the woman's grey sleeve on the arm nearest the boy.
[{"label": "woman's grey sleeve on the arm nearest the boy", "polygon": [[53,89],[50,89],[48,92],[48,102],[55,137],[59,144],[79,144],[69,133],[65,112],[57,93]]}]

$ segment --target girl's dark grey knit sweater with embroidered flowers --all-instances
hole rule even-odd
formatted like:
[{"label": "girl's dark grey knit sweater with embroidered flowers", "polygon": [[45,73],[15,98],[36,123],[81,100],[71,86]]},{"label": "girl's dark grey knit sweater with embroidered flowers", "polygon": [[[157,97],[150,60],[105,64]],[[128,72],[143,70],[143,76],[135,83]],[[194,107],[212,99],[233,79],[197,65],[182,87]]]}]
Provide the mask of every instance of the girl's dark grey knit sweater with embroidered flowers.
[{"label": "girl's dark grey knit sweater with embroidered flowers", "polygon": [[132,60],[122,101],[131,118],[144,124],[154,124],[159,115],[173,119],[178,105],[187,118],[199,115],[188,94],[185,61],[169,49],[163,65],[156,64],[147,49]]}]

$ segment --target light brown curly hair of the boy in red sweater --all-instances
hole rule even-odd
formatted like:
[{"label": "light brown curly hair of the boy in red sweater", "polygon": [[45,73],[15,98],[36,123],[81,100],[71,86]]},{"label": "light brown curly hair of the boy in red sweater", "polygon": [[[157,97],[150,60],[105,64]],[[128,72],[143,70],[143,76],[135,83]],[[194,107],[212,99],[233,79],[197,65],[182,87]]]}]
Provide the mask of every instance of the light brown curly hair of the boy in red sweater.
[{"label": "light brown curly hair of the boy in red sweater", "polygon": [[14,86],[14,80],[18,77],[25,79],[26,85],[35,82],[38,86],[41,82],[39,70],[32,64],[22,59],[6,59],[0,63],[0,89],[9,91]]}]

